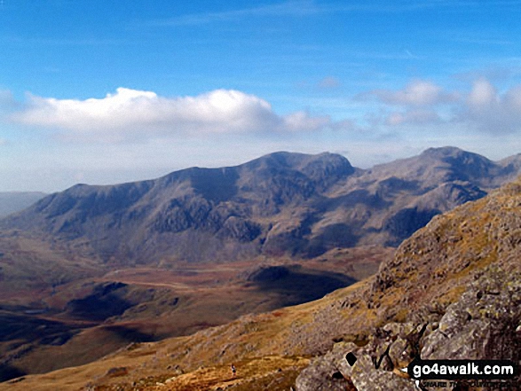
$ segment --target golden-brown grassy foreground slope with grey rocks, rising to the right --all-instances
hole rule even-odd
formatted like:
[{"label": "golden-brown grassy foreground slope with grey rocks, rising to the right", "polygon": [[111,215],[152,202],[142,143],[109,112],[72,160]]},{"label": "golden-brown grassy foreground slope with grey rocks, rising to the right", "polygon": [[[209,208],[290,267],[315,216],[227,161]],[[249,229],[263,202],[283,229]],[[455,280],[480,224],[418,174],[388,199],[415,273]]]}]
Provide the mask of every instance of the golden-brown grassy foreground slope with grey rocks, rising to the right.
[{"label": "golden-brown grassy foreground slope with grey rocks, rising to the right", "polygon": [[[406,366],[418,349],[425,357],[518,360],[520,238],[518,180],[436,217],[399,246],[373,278],[324,299],[129,347],[93,364],[5,387],[256,390],[264,389],[262,379],[272,384],[279,379],[286,388],[271,389],[282,390],[310,356],[319,355],[296,379],[299,391],[318,384],[413,390],[414,383],[394,370]],[[444,332],[454,337],[446,340]],[[389,358],[375,368],[372,358],[382,361],[386,347]],[[343,358],[349,351],[359,357],[353,369]],[[259,357],[280,365],[280,371],[273,373]],[[237,378],[225,370],[231,363],[237,364]]]}]

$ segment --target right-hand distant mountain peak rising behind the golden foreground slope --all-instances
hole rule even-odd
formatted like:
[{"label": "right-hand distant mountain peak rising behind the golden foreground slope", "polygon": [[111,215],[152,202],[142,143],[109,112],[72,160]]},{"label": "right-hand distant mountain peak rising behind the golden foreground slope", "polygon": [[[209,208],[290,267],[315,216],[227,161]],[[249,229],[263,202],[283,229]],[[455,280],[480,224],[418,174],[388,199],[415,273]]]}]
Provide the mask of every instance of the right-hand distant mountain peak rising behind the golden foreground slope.
[{"label": "right-hand distant mountain peak rising behind the golden foreground slope", "polygon": [[[398,246],[434,215],[480,199],[521,173],[521,155],[493,162],[454,147],[430,148],[418,156],[395,160],[351,176],[335,195],[366,194],[358,201],[359,244]],[[375,210],[375,207],[377,209]],[[346,209],[346,205],[340,206]]]}]

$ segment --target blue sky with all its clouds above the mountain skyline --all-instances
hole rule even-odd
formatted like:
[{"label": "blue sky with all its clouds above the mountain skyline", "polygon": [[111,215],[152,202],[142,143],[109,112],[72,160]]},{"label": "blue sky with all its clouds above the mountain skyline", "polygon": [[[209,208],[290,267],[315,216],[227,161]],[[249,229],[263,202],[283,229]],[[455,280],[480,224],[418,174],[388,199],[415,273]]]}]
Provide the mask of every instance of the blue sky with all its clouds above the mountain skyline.
[{"label": "blue sky with all its clouds above the mountain skyline", "polygon": [[521,152],[521,1],[0,0],[0,192]]}]

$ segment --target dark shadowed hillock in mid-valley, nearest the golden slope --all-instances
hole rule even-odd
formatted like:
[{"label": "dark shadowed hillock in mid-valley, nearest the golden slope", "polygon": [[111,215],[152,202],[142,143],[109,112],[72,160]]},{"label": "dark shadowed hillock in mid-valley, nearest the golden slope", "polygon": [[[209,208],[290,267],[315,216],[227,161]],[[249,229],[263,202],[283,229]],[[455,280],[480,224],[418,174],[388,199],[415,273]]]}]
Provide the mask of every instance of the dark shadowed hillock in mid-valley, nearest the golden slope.
[{"label": "dark shadowed hillock in mid-valley, nearest the golden slope", "polygon": [[248,285],[264,292],[278,293],[280,307],[318,300],[326,294],[356,283],[340,273],[301,270],[298,266],[270,266],[252,273]]}]

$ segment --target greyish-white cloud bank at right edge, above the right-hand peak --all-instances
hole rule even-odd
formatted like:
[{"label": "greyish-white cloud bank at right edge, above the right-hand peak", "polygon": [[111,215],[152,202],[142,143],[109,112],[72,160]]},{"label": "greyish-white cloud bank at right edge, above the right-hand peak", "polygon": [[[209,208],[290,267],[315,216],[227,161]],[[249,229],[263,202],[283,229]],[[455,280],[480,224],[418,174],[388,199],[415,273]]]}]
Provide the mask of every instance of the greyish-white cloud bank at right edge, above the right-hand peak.
[{"label": "greyish-white cloud bank at right edge, above the right-hand peak", "polygon": [[469,91],[446,92],[437,84],[416,80],[402,90],[372,90],[356,98],[380,102],[367,114],[374,127],[429,125],[440,133],[466,129],[492,136],[521,132],[521,84],[501,93],[483,76]]}]

